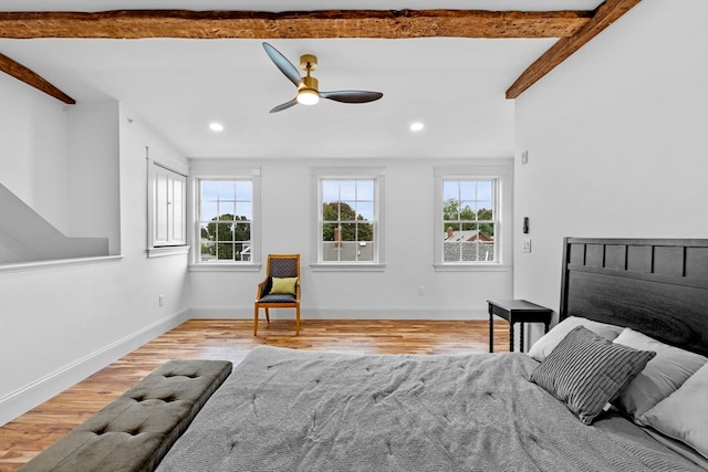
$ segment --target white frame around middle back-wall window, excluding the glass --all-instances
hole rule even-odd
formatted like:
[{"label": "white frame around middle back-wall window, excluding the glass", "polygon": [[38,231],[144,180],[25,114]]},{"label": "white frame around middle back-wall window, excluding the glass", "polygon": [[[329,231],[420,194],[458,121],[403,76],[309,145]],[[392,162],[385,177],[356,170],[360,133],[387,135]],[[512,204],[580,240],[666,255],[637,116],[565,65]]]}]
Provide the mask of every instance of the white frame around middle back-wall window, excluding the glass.
[{"label": "white frame around middle back-wall window, excluding the glass", "polygon": [[[312,219],[311,263],[313,271],[383,271],[384,251],[384,185],[383,167],[315,167],[312,168],[312,201],[314,218]],[[322,181],[323,180],[367,180],[374,181],[374,260],[373,261],[323,261],[322,256]]]}]

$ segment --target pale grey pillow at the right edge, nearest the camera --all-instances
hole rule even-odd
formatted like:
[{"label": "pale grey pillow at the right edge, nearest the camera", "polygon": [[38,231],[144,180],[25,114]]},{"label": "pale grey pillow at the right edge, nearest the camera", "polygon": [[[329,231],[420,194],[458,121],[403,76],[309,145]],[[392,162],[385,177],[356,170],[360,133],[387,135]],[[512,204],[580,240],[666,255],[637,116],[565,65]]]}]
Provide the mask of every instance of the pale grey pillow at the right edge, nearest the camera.
[{"label": "pale grey pillow at the right edge, nearest the camera", "polygon": [[641,417],[641,422],[708,459],[708,364]]}]

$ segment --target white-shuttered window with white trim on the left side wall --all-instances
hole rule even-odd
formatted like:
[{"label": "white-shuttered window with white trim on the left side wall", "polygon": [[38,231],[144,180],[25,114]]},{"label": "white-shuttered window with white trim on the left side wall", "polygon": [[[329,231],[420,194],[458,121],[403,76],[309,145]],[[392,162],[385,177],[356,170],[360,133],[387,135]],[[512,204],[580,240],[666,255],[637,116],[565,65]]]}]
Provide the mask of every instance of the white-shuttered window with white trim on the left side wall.
[{"label": "white-shuttered window with white trim on the left side wall", "polygon": [[[148,150],[146,149],[146,153]],[[187,176],[177,169],[147,157],[147,256],[186,254],[187,245]],[[158,182],[164,180],[165,188]],[[160,195],[159,190],[165,190]],[[160,221],[164,216],[164,221]],[[165,224],[163,231],[159,224]],[[164,232],[165,238],[159,234]]]}]

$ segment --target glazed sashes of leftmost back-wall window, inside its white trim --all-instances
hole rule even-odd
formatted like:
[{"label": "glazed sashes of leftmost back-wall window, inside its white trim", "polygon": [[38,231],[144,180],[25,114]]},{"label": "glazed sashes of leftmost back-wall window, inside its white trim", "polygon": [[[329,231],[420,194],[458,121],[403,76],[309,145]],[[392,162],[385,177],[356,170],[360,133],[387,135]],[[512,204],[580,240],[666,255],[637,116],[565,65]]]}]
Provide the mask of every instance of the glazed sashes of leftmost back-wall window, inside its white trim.
[{"label": "glazed sashes of leftmost back-wall window, inside its white trim", "polygon": [[252,180],[199,179],[198,191],[197,262],[252,262]]}]

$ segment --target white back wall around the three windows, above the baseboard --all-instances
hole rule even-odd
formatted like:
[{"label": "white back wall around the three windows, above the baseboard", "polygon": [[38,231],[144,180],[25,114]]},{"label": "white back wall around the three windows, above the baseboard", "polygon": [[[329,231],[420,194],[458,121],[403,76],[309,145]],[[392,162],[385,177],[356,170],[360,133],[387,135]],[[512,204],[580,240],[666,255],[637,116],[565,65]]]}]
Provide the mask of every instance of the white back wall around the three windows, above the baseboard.
[{"label": "white back wall around the three windows, above the baseboard", "polygon": [[[268,253],[300,253],[302,318],[486,318],[487,298],[511,296],[511,269],[436,272],[433,266],[434,171],[436,166],[470,166],[480,159],[264,159],[240,160],[261,170],[262,260]],[[488,159],[481,159],[489,162]],[[498,160],[502,162],[503,159]],[[222,161],[221,167],[232,167]],[[218,167],[219,164],[217,162]],[[385,264],[376,272],[313,271],[310,268],[312,168],[381,167],[385,172]],[[509,264],[511,261],[507,261]],[[190,272],[190,317],[251,318],[260,272]],[[425,295],[418,295],[418,286]],[[273,311],[275,317],[291,317]],[[306,325],[303,325],[306,329]]]}]

